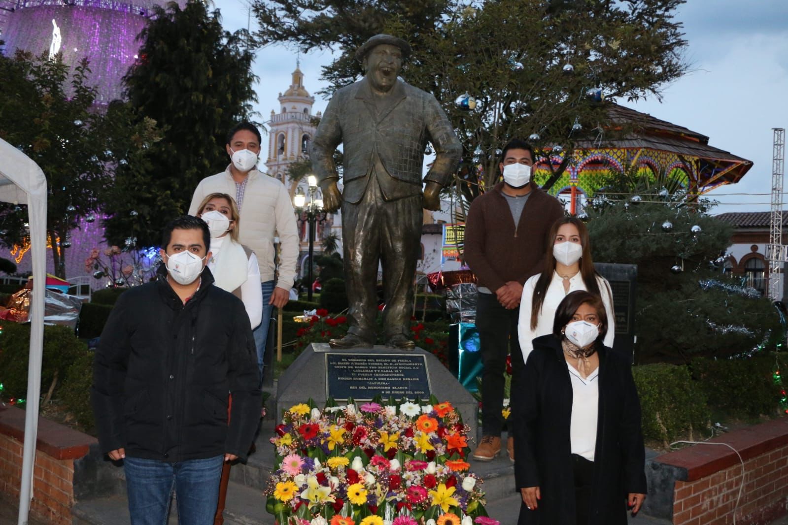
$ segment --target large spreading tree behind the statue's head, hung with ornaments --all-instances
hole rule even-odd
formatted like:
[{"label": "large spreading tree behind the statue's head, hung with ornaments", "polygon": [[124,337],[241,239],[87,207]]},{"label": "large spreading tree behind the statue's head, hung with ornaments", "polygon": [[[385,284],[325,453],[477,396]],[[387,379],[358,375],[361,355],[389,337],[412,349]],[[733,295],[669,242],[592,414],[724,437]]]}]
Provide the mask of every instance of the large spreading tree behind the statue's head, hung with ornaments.
[{"label": "large spreading tree behind the statue's head, hung with ornaments", "polygon": [[[434,94],[461,142],[459,187],[474,198],[498,179],[496,150],[537,134],[536,146],[571,151],[582,133],[604,126],[607,98],[660,96],[686,71],[683,0],[257,0],[261,44],[290,43],[304,53],[340,50],[323,68],[325,94],[359,79],[355,50],[380,32],[406,39],[414,53],[408,83]],[[570,74],[564,66],[571,65]],[[473,110],[455,99],[468,94]],[[565,166],[564,166],[565,167]],[[563,169],[563,168],[562,168]],[[480,173],[481,170],[481,173]]]}]

